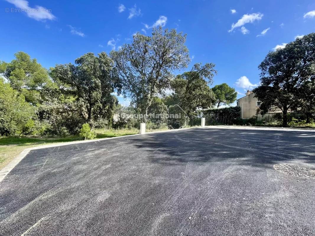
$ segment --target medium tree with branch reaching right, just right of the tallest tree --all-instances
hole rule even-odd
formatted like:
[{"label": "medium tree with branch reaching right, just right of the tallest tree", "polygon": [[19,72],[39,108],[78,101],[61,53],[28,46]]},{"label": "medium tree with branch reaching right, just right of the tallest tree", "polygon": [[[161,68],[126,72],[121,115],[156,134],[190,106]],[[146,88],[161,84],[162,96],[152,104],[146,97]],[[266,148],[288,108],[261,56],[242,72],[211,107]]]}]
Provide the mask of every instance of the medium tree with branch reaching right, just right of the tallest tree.
[{"label": "medium tree with branch reaching right, just right of the tallest tree", "polygon": [[215,65],[206,63],[201,66],[195,64],[192,70],[176,76],[171,82],[176,100],[180,107],[185,110],[187,115],[196,112],[197,109],[212,107],[215,101],[215,95],[208,86],[213,82],[213,76],[217,73]]}]

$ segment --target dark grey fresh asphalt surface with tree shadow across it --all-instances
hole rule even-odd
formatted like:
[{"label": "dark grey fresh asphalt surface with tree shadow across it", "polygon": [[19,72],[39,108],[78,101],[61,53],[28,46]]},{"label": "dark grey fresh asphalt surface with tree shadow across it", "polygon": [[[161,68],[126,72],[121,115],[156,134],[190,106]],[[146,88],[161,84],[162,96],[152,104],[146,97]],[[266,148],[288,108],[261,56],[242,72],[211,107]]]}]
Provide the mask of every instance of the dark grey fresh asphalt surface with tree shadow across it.
[{"label": "dark grey fresh asphalt surface with tree shadow across it", "polygon": [[32,150],[0,235],[315,235],[315,133],[195,128]]}]

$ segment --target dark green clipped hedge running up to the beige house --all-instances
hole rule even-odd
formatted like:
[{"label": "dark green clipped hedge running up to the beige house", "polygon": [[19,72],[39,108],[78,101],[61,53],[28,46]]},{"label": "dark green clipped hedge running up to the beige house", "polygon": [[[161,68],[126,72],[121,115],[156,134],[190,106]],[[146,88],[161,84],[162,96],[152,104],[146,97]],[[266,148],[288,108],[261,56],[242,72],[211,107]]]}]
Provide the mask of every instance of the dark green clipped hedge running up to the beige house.
[{"label": "dark green clipped hedge running up to the beige house", "polygon": [[220,109],[209,109],[204,110],[203,114],[206,118],[207,125],[232,125],[239,123],[239,120],[241,119],[241,108],[239,106],[235,106]]}]

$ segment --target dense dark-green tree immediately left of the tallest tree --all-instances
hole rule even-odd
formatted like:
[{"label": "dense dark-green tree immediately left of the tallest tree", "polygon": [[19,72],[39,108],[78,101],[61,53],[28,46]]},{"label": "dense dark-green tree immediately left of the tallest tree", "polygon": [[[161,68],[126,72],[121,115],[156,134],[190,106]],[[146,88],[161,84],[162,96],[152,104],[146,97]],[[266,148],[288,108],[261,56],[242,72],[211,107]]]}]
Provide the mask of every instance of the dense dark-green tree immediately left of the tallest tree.
[{"label": "dense dark-green tree immediately left of the tallest tree", "polygon": [[56,65],[50,75],[55,81],[61,81],[69,87],[63,89],[71,93],[82,108],[81,115],[87,122],[110,119],[113,115],[116,99],[111,93],[116,88],[120,92],[120,85],[113,71],[113,61],[105,52],[86,53],[71,63]]}]

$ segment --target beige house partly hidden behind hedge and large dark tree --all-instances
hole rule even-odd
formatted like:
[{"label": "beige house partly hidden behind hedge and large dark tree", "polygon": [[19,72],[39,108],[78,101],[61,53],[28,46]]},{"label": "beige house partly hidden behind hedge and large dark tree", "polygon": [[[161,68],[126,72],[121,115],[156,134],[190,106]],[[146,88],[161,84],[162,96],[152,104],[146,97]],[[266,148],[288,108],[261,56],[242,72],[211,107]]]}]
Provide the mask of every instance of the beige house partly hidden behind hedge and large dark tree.
[{"label": "beige house partly hidden behind hedge and large dark tree", "polygon": [[241,118],[249,119],[256,116],[257,120],[269,120],[274,117],[277,113],[282,113],[279,108],[273,108],[264,116],[257,114],[257,109],[260,107],[261,102],[255,98],[255,93],[253,91],[247,90],[246,96],[237,99],[237,105],[241,107]]}]

